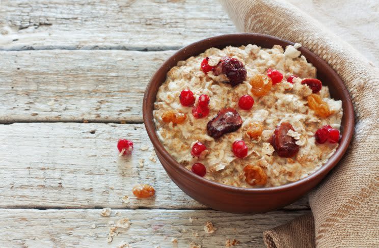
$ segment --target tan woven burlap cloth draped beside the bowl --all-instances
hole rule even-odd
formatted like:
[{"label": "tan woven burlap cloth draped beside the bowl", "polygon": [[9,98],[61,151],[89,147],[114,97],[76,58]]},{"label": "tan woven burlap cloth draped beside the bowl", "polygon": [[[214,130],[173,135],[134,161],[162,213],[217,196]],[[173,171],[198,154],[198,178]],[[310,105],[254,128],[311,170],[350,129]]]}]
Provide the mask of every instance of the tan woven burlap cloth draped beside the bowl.
[{"label": "tan woven burlap cloth draped beside the bowl", "polygon": [[379,247],[378,68],[284,0],[220,1],[239,31],[281,37],[316,53],[340,75],[355,106],[353,141],[339,165],[309,195],[312,214],[265,231],[264,242],[272,248]]}]

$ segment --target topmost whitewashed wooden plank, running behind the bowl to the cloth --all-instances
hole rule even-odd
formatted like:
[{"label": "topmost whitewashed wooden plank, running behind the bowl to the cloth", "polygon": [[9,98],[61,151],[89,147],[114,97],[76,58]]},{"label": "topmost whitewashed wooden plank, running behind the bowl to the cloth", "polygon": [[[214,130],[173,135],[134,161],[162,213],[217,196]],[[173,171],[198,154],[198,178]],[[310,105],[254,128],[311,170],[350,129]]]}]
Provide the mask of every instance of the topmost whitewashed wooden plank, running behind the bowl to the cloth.
[{"label": "topmost whitewashed wooden plank, running behind the bowl to the cloth", "polygon": [[2,0],[0,49],[168,50],[236,29],[218,1]]}]

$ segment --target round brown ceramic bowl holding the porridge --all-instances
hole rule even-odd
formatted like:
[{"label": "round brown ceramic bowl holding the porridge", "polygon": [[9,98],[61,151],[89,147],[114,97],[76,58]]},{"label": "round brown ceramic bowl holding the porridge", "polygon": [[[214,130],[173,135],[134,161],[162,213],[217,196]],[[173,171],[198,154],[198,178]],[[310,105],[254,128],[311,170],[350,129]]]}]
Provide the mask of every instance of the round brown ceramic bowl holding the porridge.
[{"label": "round brown ceramic bowl holding the porridge", "polygon": [[317,68],[317,78],[323,85],[329,86],[331,96],[342,100],[342,139],[335,154],[315,173],[296,182],[270,188],[238,188],[223,185],[199,177],[182,167],[160,143],[153,123],[153,104],[159,86],[166,80],[167,72],[176,66],[178,61],[197,56],[210,47],[224,48],[226,46],[240,46],[256,44],[264,48],[273,45],[293,45],[292,42],[280,38],[251,33],[229,34],[211,37],[192,43],[177,51],[151,77],[146,88],[143,101],[143,118],[147,133],[153,143],[155,152],[167,174],[187,195],[213,209],[234,213],[258,213],[284,207],[315,187],[324,178],[345,153],[354,129],[354,109],[350,96],[337,73],[327,63],[318,58],[311,51],[300,48],[308,62]]}]

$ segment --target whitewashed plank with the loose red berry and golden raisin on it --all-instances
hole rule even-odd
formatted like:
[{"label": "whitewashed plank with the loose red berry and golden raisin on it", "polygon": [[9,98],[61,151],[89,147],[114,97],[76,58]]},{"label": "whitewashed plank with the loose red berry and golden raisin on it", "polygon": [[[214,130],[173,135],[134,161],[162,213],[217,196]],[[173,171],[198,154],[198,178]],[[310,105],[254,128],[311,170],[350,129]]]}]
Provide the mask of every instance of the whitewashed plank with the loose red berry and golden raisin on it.
[{"label": "whitewashed plank with the loose red berry and golden raisin on it", "polygon": [[[120,138],[134,142],[131,156],[118,157]],[[159,161],[149,160],[151,153],[143,124],[0,125],[0,207],[205,209],[169,179]],[[156,197],[134,198],[137,183],[154,186]],[[122,202],[124,195],[130,203]],[[306,197],[286,207],[307,208]]]}]

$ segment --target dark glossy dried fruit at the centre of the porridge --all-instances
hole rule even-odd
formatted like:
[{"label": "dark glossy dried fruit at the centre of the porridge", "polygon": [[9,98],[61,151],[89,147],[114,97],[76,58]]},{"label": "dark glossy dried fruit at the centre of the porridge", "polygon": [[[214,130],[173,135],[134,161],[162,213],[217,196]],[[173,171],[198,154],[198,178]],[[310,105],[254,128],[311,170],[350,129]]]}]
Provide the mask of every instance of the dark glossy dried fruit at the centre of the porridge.
[{"label": "dark glossy dried fruit at the centre of the porridge", "polygon": [[234,132],[242,125],[242,119],[234,108],[223,108],[208,122],[208,135],[217,139],[223,134]]}]

